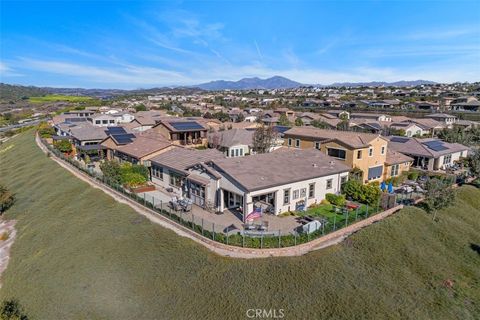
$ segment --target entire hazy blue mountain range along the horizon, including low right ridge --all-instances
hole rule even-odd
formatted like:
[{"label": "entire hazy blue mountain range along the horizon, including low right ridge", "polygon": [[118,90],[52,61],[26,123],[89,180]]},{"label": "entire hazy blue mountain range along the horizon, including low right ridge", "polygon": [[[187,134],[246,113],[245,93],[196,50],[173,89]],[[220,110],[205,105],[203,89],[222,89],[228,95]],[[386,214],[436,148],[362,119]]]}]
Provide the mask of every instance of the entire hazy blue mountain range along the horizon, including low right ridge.
[{"label": "entire hazy blue mountain range along the horizon, including low right ridge", "polygon": [[260,79],[257,77],[254,78],[243,78],[238,81],[226,81],[226,80],[216,80],[193,87],[197,87],[203,90],[251,90],[251,89],[291,89],[299,87],[363,87],[363,86],[418,86],[422,84],[435,84],[433,81],[428,80],[414,80],[414,81],[397,81],[397,82],[340,82],[333,83],[330,85],[323,84],[305,84],[290,80],[281,76],[274,76],[267,79]]}]

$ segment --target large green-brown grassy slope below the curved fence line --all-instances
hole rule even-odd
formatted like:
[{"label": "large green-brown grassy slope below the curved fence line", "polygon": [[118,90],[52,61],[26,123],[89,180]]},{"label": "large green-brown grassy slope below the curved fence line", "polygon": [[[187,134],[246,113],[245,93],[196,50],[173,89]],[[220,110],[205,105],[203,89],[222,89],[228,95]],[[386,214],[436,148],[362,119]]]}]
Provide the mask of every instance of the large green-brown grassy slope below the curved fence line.
[{"label": "large green-brown grassy slope below the curved fence line", "polygon": [[17,239],[0,299],[35,319],[478,319],[480,190],[440,221],[417,208],[295,258],[222,258],[70,175],[31,132],[1,148]]}]

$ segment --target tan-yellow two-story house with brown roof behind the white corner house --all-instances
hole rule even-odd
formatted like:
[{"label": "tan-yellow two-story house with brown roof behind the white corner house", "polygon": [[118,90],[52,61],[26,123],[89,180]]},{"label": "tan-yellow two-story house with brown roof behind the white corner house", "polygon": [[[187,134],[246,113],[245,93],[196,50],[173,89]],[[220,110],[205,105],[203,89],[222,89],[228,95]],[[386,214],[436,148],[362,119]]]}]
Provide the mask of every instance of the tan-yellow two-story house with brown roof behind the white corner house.
[{"label": "tan-yellow two-story house with brown roof behind the white corner house", "polygon": [[361,180],[382,180],[388,140],[378,134],[294,127],[285,132],[285,145],[298,149],[318,149],[362,171]]}]

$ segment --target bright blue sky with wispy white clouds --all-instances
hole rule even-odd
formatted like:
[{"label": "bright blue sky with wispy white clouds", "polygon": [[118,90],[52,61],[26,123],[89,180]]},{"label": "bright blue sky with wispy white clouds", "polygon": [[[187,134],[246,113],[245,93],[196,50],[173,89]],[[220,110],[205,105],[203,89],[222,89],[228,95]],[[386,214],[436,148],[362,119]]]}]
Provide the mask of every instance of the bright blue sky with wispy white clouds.
[{"label": "bright blue sky with wispy white clouds", "polygon": [[480,1],[1,1],[1,81],[480,80]]}]

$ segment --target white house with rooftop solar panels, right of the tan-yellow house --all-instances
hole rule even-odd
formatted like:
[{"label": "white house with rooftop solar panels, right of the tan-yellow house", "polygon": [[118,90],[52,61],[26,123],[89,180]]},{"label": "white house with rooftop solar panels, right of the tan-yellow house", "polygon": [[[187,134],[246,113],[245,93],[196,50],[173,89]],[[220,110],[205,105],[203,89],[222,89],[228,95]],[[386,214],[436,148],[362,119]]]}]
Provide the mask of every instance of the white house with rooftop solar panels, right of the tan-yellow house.
[{"label": "white house with rooftop solar panels, right of the tan-yellow house", "polygon": [[424,170],[444,170],[460,158],[466,157],[469,148],[459,143],[440,139],[388,137],[388,147],[413,158],[413,166]]}]

